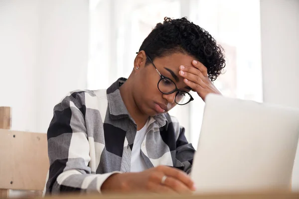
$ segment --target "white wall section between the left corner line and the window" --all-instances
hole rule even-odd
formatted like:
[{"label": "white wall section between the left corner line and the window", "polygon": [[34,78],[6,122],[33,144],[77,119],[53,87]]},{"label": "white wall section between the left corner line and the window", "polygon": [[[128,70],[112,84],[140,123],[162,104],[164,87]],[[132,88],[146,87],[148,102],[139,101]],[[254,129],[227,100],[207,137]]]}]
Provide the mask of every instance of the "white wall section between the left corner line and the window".
[{"label": "white wall section between the left corner line and the window", "polygon": [[88,0],[43,0],[37,67],[37,130],[46,132],[53,107],[67,92],[86,89]]}]

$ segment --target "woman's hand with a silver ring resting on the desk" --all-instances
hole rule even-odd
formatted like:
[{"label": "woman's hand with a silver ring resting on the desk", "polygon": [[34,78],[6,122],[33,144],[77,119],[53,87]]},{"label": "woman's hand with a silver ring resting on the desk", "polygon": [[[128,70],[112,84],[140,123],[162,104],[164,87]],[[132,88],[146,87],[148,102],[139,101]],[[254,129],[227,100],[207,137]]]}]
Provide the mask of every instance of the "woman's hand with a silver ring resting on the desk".
[{"label": "woman's hand with a silver ring resting on the desk", "polygon": [[[162,184],[163,177],[166,176]],[[102,185],[102,193],[190,193],[195,191],[194,183],[184,172],[158,166],[140,173],[111,175]]]}]

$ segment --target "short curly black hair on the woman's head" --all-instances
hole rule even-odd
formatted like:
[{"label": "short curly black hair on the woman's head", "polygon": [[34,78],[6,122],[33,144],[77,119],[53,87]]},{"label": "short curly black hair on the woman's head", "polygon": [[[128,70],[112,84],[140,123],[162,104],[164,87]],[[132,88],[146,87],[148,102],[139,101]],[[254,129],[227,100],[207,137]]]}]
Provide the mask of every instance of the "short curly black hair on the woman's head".
[{"label": "short curly black hair on the woman's head", "polygon": [[[141,50],[152,60],[175,52],[187,53],[207,67],[211,81],[215,81],[225,67],[223,48],[206,30],[185,17],[164,17],[163,24],[157,23],[144,40]],[[146,64],[149,64],[149,60]]]}]

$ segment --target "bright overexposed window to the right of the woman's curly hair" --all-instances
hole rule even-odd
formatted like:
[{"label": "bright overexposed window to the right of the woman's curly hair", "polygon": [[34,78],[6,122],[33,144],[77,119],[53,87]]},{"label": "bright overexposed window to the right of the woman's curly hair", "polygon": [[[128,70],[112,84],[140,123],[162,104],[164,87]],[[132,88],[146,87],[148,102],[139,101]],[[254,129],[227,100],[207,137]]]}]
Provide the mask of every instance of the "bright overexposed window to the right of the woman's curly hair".
[{"label": "bright overexposed window to the right of the woman's curly hair", "polygon": [[[262,101],[260,0],[191,3],[190,19],[209,31],[225,49],[226,73],[219,76],[215,86],[227,97]],[[189,138],[197,147],[204,102],[196,98],[190,105]]]}]

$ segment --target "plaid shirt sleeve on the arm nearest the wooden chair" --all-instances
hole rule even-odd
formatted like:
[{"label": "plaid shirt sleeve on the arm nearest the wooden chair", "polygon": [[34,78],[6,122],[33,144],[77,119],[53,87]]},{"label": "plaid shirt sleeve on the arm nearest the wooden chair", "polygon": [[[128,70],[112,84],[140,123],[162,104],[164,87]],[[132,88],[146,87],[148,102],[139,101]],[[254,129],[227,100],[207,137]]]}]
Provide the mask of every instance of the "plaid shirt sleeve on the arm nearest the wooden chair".
[{"label": "plaid shirt sleeve on the arm nearest the wooden chair", "polygon": [[85,126],[85,95],[74,92],[54,107],[50,122],[48,156],[50,161],[46,194],[98,192],[114,173],[94,174],[88,164],[90,143]]}]

